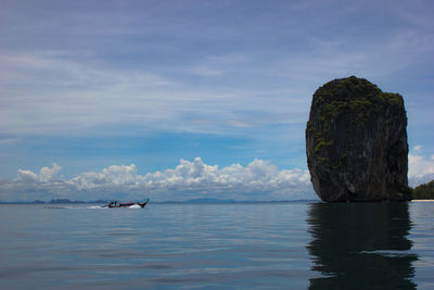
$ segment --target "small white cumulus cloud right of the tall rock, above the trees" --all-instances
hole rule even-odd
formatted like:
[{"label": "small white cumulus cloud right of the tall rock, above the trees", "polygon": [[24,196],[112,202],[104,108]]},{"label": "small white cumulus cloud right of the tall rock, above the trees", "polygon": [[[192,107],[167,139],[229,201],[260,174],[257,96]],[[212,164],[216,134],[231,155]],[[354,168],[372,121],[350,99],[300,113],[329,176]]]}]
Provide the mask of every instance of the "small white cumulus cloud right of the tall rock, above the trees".
[{"label": "small white cumulus cloud right of the tall rock, above the trees", "polygon": [[423,156],[422,146],[414,146],[408,155],[408,181],[410,186],[426,184],[434,179],[434,155]]}]

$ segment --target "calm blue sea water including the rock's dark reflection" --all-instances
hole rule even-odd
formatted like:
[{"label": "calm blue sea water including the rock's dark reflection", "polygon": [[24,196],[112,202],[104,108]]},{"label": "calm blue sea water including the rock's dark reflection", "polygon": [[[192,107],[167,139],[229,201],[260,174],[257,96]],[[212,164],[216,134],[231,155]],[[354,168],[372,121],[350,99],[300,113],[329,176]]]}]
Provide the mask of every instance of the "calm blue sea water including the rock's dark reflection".
[{"label": "calm blue sea water including the rock's dark reflection", "polygon": [[434,202],[0,205],[0,289],[434,289]]}]

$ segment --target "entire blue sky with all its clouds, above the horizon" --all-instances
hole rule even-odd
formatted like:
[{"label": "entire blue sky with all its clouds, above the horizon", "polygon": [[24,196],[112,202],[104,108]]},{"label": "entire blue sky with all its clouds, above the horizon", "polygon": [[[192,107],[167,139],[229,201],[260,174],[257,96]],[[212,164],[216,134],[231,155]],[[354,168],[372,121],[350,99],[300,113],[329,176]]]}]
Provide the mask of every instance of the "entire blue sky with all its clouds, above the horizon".
[{"label": "entire blue sky with all its clouds, above the horizon", "polygon": [[317,199],[311,96],[404,96],[434,179],[434,2],[0,0],[0,200]]}]

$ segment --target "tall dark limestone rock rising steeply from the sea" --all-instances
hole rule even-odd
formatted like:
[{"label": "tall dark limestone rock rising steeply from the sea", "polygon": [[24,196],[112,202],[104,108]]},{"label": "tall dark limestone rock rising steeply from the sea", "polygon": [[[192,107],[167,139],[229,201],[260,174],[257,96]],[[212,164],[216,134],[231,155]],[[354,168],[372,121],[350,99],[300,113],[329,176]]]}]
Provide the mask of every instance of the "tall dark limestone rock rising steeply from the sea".
[{"label": "tall dark limestone rock rising steeply from the sea", "polygon": [[306,153],[323,201],[411,199],[403,97],[366,79],[335,79],[315,92]]}]

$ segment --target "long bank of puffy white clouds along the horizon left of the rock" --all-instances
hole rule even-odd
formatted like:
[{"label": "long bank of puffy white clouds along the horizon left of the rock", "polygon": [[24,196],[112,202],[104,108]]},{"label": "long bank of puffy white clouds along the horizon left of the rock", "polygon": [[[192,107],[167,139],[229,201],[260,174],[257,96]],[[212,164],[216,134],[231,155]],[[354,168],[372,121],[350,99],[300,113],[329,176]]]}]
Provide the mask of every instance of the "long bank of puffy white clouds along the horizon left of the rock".
[{"label": "long bank of puffy white clouds along the horizon left of the rock", "polygon": [[[42,167],[39,173],[20,169],[14,180],[0,184],[3,200],[50,199],[142,199],[188,200],[217,198],[235,200],[292,200],[314,198],[308,171],[281,169],[270,162],[254,160],[246,166],[219,168],[201,157],[180,160],[175,168],[138,174],[137,166],[112,165],[101,172],[56,178],[61,167]],[[31,194],[29,194],[31,193]]]}]

